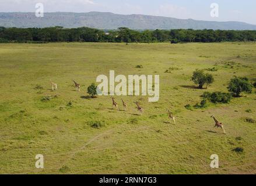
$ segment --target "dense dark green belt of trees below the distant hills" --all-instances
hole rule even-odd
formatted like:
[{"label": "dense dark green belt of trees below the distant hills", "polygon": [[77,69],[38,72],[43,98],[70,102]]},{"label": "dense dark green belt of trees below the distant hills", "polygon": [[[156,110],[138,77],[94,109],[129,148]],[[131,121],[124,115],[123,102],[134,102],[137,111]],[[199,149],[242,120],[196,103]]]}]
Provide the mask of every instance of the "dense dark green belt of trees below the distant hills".
[{"label": "dense dark green belt of trees below the distant hills", "polygon": [[121,27],[103,31],[94,28],[5,28],[0,42],[224,42],[256,41],[256,30],[144,30]]}]

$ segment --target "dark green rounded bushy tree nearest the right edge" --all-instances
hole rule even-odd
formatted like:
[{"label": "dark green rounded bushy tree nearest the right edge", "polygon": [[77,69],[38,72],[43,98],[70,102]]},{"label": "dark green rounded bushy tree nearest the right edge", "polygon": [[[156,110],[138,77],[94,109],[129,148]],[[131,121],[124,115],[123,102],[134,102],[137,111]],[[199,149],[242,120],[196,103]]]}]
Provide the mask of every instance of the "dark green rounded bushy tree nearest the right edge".
[{"label": "dark green rounded bushy tree nearest the right edge", "polygon": [[248,78],[233,78],[230,80],[229,86],[227,87],[229,92],[236,97],[239,97],[241,92],[248,92],[251,93],[253,90],[253,85],[249,82]]}]

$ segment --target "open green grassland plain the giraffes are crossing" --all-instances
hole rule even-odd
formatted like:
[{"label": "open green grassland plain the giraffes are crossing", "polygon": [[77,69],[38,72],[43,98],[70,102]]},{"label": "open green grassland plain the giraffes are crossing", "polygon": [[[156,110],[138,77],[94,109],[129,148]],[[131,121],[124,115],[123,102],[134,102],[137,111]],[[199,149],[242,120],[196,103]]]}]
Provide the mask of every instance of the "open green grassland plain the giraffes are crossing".
[{"label": "open green grassland plain the giraffes are crossing", "polygon": [[[184,108],[200,102],[206,91],[194,87],[192,72],[212,67],[218,71],[209,71],[215,78],[209,92],[227,92],[234,76],[255,81],[256,43],[0,44],[0,173],[255,174],[256,124],[246,121],[256,119],[255,88],[229,104]],[[87,87],[109,70],[159,74],[159,102],[115,96],[118,111],[110,96],[90,99]],[[51,91],[50,79],[57,91]],[[72,79],[82,85],[81,92]],[[141,102],[142,116],[134,101]],[[223,122],[226,135],[212,132],[211,115]],[[95,121],[103,126],[88,124]],[[233,151],[237,147],[244,151]],[[37,154],[44,155],[44,169],[35,167]],[[212,154],[219,155],[219,169],[210,167]]]}]

